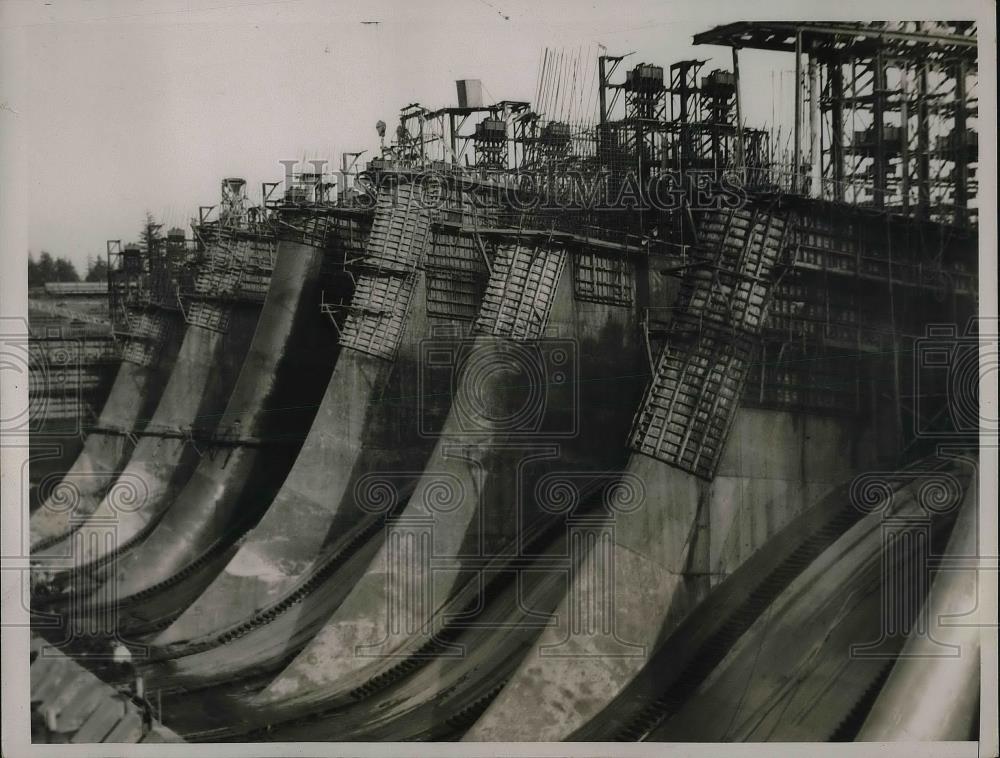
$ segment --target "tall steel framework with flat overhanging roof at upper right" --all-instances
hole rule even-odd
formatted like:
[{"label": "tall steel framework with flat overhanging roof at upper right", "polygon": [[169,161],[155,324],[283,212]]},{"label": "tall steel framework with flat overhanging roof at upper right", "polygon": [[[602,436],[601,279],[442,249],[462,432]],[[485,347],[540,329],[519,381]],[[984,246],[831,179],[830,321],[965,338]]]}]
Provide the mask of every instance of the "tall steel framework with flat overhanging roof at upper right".
[{"label": "tall steel framework with flat overhanging roof at upper right", "polygon": [[695,44],[795,56],[786,191],[974,225],[977,42],[970,22],[741,22]]}]

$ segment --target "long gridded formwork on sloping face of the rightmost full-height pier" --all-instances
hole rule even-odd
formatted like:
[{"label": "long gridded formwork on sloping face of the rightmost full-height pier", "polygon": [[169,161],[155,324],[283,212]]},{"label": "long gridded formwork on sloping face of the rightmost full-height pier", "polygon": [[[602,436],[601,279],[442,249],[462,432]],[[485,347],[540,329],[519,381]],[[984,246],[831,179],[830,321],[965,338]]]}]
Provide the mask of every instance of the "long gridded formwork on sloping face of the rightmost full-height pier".
[{"label": "long gridded formwork on sloping face of the rightmost full-height pier", "polygon": [[747,209],[704,219],[696,265],[633,423],[633,450],[714,476],[767,317],[784,231],[783,219]]}]

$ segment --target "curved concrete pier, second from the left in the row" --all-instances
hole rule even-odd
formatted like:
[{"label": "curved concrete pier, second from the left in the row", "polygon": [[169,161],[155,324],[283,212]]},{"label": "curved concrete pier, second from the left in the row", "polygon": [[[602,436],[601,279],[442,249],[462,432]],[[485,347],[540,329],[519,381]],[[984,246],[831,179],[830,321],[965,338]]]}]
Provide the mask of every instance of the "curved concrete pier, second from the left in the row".
[{"label": "curved concrete pier, second from the left in the row", "polygon": [[74,592],[96,589],[113,559],[140,542],[173,503],[199,458],[194,434],[215,429],[260,315],[258,301],[220,299],[224,293],[211,291],[219,286],[213,274],[228,271],[234,256],[242,259],[272,245],[272,238],[251,236],[235,248],[222,243],[210,248],[218,265],[203,269],[196,280],[208,292],[187,308],[189,327],[170,379],[118,475],[118,481],[134,483],[132,497],[121,501],[105,496],[71,538],[33,556],[41,586],[65,591],[63,585],[72,577],[81,583]]}]

